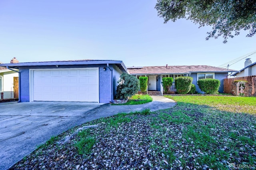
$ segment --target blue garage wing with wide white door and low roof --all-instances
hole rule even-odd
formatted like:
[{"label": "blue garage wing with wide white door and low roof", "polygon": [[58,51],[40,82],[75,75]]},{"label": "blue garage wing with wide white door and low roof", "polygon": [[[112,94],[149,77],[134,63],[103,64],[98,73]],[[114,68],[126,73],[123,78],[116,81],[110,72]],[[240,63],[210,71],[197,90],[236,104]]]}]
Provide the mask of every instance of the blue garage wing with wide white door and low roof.
[{"label": "blue garage wing with wide white door and low roof", "polygon": [[20,101],[109,103],[127,69],[122,61],[74,60],[0,64],[18,68]]}]

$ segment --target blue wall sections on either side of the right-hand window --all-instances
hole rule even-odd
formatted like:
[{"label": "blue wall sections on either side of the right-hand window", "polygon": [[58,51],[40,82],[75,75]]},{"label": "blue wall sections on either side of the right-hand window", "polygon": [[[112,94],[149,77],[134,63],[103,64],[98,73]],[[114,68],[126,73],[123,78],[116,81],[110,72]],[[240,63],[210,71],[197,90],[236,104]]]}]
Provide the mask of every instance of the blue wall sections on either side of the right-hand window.
[{"label": "blue wall sections on either side of the right-hand window", "polygon": [[[196,92],[204,94],[204,92],[202,92],[197,85],[197,73],[191,73],[190,77],[193,78],[192,84],[194,84],[196,86]],[[224,92],[223,82],[224,82],[224,78],[227,78],[227,77],[228,77],[228,72],[216,72],[215,73],[214,78],[217,80],[220,80],[220,88],[219,88],[218,92],[220,92],[220,93]]]}]

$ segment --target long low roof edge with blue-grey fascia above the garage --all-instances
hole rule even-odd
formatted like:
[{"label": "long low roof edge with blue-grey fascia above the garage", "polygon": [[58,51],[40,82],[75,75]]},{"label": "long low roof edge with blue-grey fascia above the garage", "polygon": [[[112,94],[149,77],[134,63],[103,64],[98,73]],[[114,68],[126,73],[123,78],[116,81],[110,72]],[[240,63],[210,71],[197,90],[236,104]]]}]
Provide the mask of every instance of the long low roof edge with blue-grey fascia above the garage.
[{"label": "long low roof edge with blue-grey fascia above the garage", "polygon": [[116,64],[122,72],[127,72],[127,68],[122,61],[119,60],[67,60],[67,61],[42,61],[28,63],[7,63],[0,66],[19,67],[19,66],[52,66],[52,65],[88,65],[88,64]]}]

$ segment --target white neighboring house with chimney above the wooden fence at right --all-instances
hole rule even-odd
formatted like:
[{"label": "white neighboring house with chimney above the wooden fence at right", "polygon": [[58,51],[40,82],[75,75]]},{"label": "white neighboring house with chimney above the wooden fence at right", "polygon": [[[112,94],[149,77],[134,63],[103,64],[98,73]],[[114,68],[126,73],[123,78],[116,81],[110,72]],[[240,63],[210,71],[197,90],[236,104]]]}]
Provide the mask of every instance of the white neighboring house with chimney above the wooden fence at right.
[{"label": "white neighboring house with chimney above the wooden fence at right", "polygon": [[236,77],[246,77],[246,76],[254,76],[256,75],[256,62],[252,63],[250,59],[245,59],[244,68],[235,72],[231,76]]}]

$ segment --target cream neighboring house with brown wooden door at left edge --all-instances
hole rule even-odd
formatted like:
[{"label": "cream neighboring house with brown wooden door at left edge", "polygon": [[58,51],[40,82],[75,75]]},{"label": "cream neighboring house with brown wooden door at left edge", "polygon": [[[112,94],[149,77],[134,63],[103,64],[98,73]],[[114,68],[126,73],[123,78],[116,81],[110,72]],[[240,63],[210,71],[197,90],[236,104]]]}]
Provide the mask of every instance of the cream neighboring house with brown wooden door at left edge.
[{"label": "cream neighboring house with brown wooden door at left edge", "polygon": [[[12,59],[12,61],[13,60],[16,60],[16,58]],[[0,62],[0,64],[2,63]],[[0,92],[4,94],[3,99],[18,98],[17,72],[0,66]]]}]

